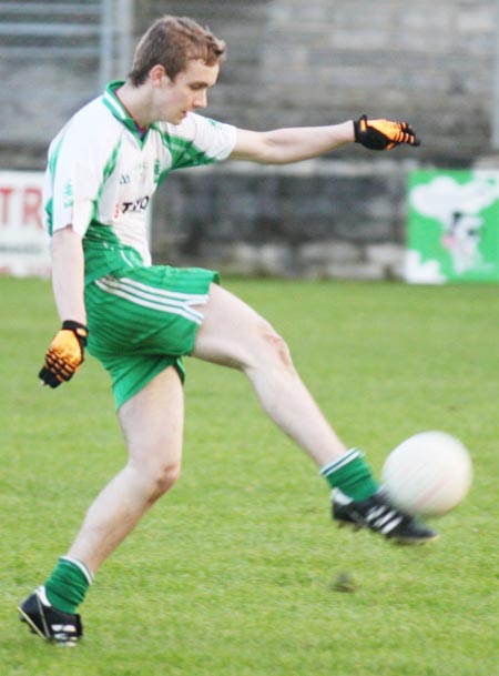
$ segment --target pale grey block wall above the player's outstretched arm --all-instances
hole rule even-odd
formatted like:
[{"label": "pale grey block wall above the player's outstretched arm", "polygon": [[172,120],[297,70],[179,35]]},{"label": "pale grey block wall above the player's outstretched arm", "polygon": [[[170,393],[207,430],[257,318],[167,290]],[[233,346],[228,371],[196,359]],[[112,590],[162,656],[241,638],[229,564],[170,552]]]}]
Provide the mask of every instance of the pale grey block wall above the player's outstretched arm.
[{"label": "pale grey block wall above the player's outstretched arm", "polygon": [[[140,31],[165,11],[161,0],[142,6]],[[408,117],[424,160],[467,163],[489,150],[496,0],[186,0],[166,10],[228,43],[214,117],[255,129]]]}]

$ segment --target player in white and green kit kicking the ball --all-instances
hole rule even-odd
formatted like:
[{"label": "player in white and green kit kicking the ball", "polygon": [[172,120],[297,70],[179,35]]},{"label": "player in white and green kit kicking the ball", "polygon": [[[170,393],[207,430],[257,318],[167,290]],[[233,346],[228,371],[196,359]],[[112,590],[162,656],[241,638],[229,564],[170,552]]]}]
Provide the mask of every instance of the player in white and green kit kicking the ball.
[{"label": "player in white and green kit kicking the ball", "polygon": [[215,271],[153,265],[145,234],[151,196],[170,171],[245,160],[285,164],[346,143],[418,145],[407,122],[369,120],[256,132],[198,113],[225,43],[166,16],[142,37],[125,81],[82,108],[52,141],[45,180],[52,280],[62,322],[41,381],[57,387],[85,350],[109,371],[128,462],[90,506],[54,569],[19,606],[47,640],[83,635],[77,613],[103,562],[179,477],[184,356],[243,371],[264,411],[308,454],[333,488],[333,517],[393,541],[436,533],[386,502],[363,454],[347,447],[296,373],[286,343]]}]

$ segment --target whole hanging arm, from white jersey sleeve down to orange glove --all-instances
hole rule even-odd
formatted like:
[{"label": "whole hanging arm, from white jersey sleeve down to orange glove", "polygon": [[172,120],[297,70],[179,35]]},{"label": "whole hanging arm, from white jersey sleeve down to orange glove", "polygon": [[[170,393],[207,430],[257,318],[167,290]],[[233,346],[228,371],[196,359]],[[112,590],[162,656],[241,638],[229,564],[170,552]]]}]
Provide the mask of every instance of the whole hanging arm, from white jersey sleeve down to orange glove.
[{"label": "whole hanging arm, from white jersey sleeve down to orange glove", "polygon": [[104,143],[89,140],[89,129],[93,134],[95,128],[92,111],[92,105],[80,111],[49,149],[44,205],[52,239],[53,293],[62,321],[39,373],[41,382],[50,387],[58,387],[74,375],[83,362],[89,333],[82,239],[94,212],[103,165],[109,157]]}]

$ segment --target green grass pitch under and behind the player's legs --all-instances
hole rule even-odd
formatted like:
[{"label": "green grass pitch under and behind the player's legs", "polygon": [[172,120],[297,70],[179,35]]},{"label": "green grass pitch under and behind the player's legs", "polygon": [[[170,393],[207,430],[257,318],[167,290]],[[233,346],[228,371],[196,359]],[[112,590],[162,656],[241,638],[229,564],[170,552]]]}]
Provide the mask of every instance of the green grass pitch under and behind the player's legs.
[{"label": "green grass pitch under and behind the player's legs", "polygon": [[[339,434],[376,472],[410,434],[471,450],[475,484],[434,546],[335,528],[314,465],[245,379],[187,362],[183,475],[101,569],[74,650],[16,605],[68,548],[124,462],[105,373],[57,391],[37,372],[50,284],[0,279],[0,670],[6,676],[499,674],[499,294],[493,286],[228,280],[286,336]],[[334,589],[348,572],[355,594]]]}]

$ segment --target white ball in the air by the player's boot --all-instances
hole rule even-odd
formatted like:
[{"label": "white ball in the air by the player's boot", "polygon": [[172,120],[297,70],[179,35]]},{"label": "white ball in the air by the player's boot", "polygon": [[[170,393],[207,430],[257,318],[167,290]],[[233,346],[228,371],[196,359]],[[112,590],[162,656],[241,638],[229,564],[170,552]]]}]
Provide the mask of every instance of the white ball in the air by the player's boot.
[{"label": "white ball in the air by the player's boot", "polygon": [[391,451],[381,481],[388,500],[406,514],[442,516],[471,486],[471,457],[455,436],[421,432]]}]

